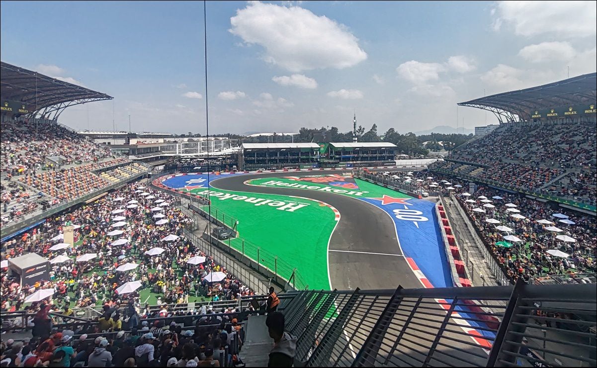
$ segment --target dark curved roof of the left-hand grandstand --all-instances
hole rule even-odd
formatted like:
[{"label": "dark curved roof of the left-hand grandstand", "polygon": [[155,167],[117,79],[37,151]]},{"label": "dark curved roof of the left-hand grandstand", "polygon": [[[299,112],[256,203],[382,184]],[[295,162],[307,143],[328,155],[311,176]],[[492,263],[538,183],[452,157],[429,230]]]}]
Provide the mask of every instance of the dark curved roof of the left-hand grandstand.
[{"label": "dark curved roof of the left-hand grandstand", "polygon": [[105,93],[5,62],[1,62],[0,82],[2,103],[25,105],[23,111],[19,111],[23,114],[37,112],[38,115],[54,113],[57,116],[67,106],[113,99]]}]

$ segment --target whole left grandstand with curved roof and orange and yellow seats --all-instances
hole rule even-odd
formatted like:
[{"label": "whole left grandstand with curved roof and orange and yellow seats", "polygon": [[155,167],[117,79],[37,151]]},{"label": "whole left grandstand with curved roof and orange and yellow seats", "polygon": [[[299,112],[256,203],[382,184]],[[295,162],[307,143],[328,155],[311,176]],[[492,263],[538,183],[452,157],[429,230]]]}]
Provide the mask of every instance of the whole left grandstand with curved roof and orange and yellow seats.
[{"label": "whole left grandstand with curved roof and orange and yellow seats", "polygon": [[3,237],[147,173],[57,122],[69,106],[112,97],[4,62],[1,72]]}]

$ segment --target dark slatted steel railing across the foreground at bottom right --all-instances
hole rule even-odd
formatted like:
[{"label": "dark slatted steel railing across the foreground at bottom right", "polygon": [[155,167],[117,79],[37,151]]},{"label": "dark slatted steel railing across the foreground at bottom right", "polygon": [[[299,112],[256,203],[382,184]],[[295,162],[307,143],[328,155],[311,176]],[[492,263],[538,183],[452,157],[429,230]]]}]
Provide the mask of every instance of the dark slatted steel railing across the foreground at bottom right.
[{"label": "dark slatted steel railing across the foreground at bottom right", "polygon": [[[300,291],[297,366],[595,366],[589,284]],[[475,307],[473,301],[484,304]],[[524,361],[524,363],[521,363]]]}]

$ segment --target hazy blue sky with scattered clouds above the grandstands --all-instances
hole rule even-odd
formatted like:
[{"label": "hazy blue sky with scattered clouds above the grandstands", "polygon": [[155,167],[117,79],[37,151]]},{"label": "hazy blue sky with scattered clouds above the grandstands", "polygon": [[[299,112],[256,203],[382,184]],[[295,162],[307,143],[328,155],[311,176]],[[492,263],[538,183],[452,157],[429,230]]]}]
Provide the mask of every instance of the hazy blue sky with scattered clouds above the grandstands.
[{"label": "hazy blue sky with scattered clouds above the grandstands", "polygon": [[[571,21],[570,14],[574,14]],[[2,1],[2,61],[110,94],[79,129],[205,133],[203,2]],[[595,72],[596,2],[208,2],[210,133],[457,125],[457,102]],[[495,121],[458,108],[461,127]]]}]

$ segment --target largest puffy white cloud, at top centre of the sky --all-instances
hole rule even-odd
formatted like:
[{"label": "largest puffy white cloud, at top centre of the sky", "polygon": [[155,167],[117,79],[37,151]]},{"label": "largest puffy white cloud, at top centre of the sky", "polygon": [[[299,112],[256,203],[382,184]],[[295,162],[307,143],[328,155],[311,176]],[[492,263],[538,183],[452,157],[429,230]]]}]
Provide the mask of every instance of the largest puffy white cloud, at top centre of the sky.
[{"label": "largest puffy white cloud, at top centre of the sky", "polygon": [[301,7],[249,2],[230,24],[233,35],[264,48],[267,63],[291,72],[343,69],[367,59],[346,26]]}]

